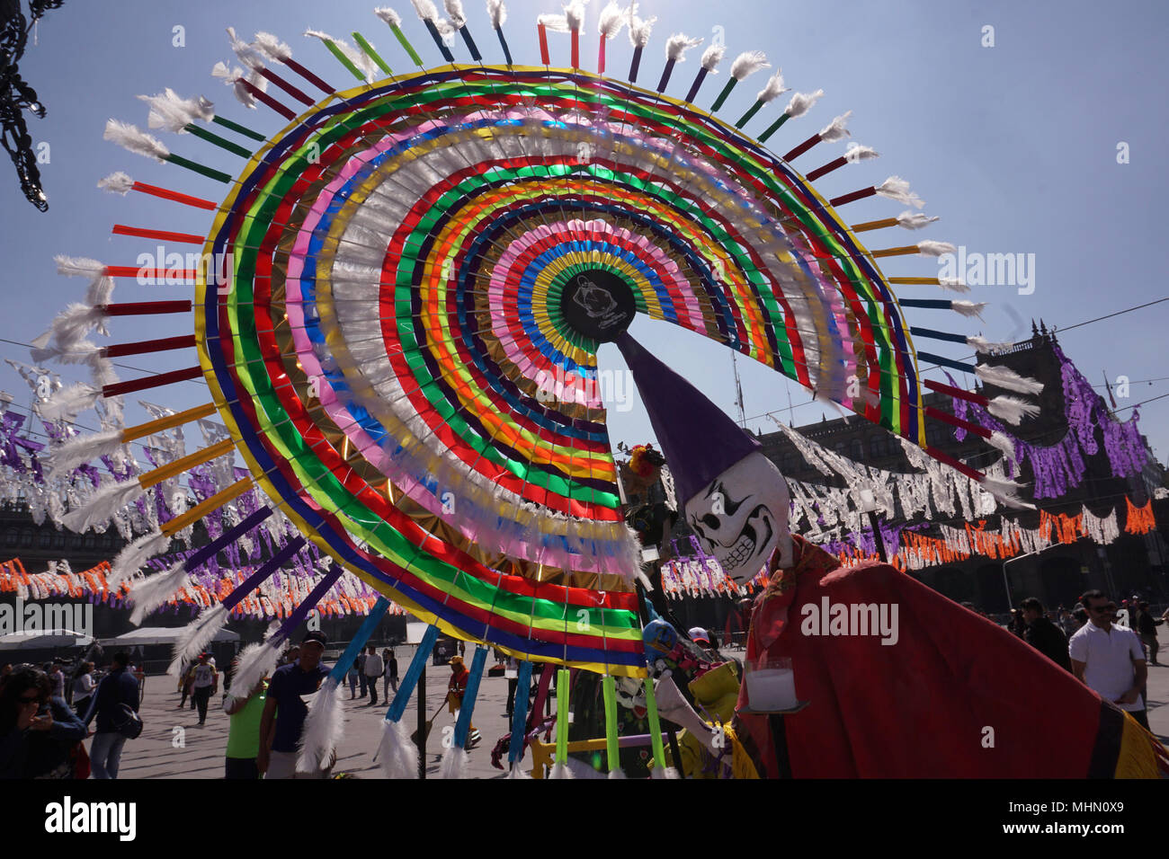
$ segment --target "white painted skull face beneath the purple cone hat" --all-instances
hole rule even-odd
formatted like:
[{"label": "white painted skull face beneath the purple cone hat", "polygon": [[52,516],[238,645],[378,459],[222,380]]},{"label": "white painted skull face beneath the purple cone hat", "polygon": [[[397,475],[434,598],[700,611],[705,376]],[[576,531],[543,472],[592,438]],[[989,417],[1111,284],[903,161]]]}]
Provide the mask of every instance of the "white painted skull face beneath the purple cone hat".
[{"label": "white painted skull face beneath the purple cone hat", "polygon": [[703,549],[736,583],[754,579],[776,546],[781,564],[791,556],[783,474],[762,453],[743,457],[686,501],[686,522]]}]

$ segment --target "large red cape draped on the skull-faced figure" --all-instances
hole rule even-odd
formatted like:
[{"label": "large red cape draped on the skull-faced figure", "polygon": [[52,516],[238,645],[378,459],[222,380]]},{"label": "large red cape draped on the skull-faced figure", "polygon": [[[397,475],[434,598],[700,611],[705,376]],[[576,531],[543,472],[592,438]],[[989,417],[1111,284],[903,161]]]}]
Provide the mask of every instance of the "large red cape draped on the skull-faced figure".
[{"label": "large red cape draped on the skull-faced figure", "polygon": [[[783,571],[776,573],[756,600],[747,645],[748,661],[765,651],[790,657],[796,697],[809,701],[783,716],[794,777],[1113,776],[1121,735],[1128,736],[1119,708],[1010,632],[893,567],[843,568],[795,541],[794,587],[779,593]],[[832,605],[895,603],[897,643],[881,644],[880,635],[805,635],[811,616],[804,607],[821,609],[824,597]],[[740,708],[746,699],[743,684]],[[776,776],[768,718],[739,720],[760,775]]]}]

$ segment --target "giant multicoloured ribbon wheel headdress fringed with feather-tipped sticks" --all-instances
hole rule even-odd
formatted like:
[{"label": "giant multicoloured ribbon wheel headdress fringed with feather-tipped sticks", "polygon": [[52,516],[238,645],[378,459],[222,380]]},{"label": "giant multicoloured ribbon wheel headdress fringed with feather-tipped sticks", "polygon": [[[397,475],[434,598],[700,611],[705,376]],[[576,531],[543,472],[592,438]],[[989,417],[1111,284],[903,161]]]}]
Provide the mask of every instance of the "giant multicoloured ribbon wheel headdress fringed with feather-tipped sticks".
[{"label": "giant multicoloured ribbon wheel headdress fringed with feather-tipped sticks", "polygon": [[[258,485],[304,538],[420,618],[524,658],[636,676],[644,657],[630,582],[641,547],[622,515],[596,352],[637,312],[718,340],[922,446],[927,417],[954,420],[924,408],[926,387],[1016,420],[1030,407],[922,380],[911,334],[987,344],[911,328],[902,309],[969,316],[981,305],[899,302],[894,284],[964,288],[890,278],[877,264],[950,245],[871,250],[858,238],[933,219],[906,212],[850,226],[837,212],[874,194],[920,206],[904,181],[830,200],[814,189],[812,181],[873,157],[871,150],[853,146],[807,174],[793,167],[818,144],[848,136],[848,115],[782,157],[763,146],[808,112],[818,91],[795,93],[753,139],[741,129],[784,91],[779,72],[732,125],[697,105],[721,46],[705,51],[689,93],[677,99],[665,90],[697,40],[671,36],[665,69],[649,90],[636,78],[650,22],[634,11],[610,4],[602,12],[601,74],[593,74],[579,60],[582,4],[541,19],[538,67],[512,61],[503,6],[487,6],[503,64],[482,61],[458,2],[447,4],[447,21],[415,0],[447,61],[429,69],[397,15],[378,11],[419,65],[413,74],[394,74],[360,34],[351,48],[310,32],[361,81],[347,90],[293,61],[274,36],[257,34],[248,44],[233,32],[245,68],[221,65],[216,74],[247,105],[286,119],[283,129],[265,137],[216,116],[206,99],[170,90],[147,101],[152,126],[192,132],[244,157],[236,175],[111,120],[108,137],[229,192],[214,202],[124,174],[105,180],[123,193],[214,210],[214,220],[206,236],[115,228],[201,245],[207,265],[186,272],[191,304],[113,304],[108,292],[95,299],[94,324],[110,314],[194,311],[194,337],[188,328],[103,355],[194,346],[199,362],[151,380],[103,379],[99,393],[113,397],[201,375],[213,403],[160,420],[171,427],[217,411],[226,437],[139,484],[236,451],[249,472],[224,482],[178,525],[137,541],[120,563],[136,571],[178,527]],[[604,46],[625,22],[635,48],[629,83],[603,74]],[[549,28],[570,33],[569,68],[552,64]],[[473,63],[454,62],[456,33]],[[740,55],[713,110],[765,65],[759,53]],[[288,106],[296,103],[299,113]],[[228,132],[260,146],[221,136]],[[106,441],[140,438],[164,423]],[[99,493],[70,514],[71,524],[84,527],[95,507],[131,499],[118,492]]]}]

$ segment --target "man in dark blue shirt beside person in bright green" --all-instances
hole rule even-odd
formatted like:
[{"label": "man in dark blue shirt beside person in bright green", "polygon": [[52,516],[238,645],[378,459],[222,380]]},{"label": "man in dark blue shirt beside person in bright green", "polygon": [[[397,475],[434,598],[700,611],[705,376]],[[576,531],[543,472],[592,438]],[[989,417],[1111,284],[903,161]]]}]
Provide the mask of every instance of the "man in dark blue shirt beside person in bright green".
[{"label": "man in dark blue shirt beside person in bright green", "polygon": [[297,743],[309,707],[305,699],[317,693],[328,669],[321,665],[327,639],[323,632],[307,632],[300,642],[300,658],[282,665],[268,685],[264,713],[260,720],[260,754],[256,766],[264,778],[327,778],[332,763],[316,773],[297,773]]}]

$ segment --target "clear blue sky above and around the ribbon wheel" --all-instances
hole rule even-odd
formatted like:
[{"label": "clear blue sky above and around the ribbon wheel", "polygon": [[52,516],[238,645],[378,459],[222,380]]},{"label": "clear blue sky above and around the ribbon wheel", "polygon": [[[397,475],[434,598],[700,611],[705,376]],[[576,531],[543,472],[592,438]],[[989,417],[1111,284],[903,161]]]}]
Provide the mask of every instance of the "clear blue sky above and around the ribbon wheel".
[{"label": "clear blue sky above and around the ribbon wheel", "polygon": [[[90,256],[111,264],[132,264],[151,243],[111,236],[115,222],[203,233],[207,213],[186,210],[131,193],[126,198],[96,188],[98,179],[116,169],[141,181],[215,198],[217,183],[171,165],[157,165],[102,139],[105,120],[116,117],[146,125],[146,106],[134,96],[172,86],[184,96],[203,93],[227,118],[272,132],[282,124],[264,108],[247,111],[230,91],[210,77],[212,65],[234,61],[223,27],[235,26],[250,39],[257,29],[279,35],[293,55],[337,85],[350,85],[346,72],[316,40],[300,34],[309,27],[347,37],[353,29],[382,49],[396,68],[406,68],[388,29],[372,14],[374,2],[307,2],[306,0],[70,0],[50,12],[39,27],[39,44],[29,44],[21,63],[26,79],[49,110],[48,118],[29,118],[33,139],[50,146],[51,161],[41,171],[50,209],[40,214],[25,202],[7,162],[0,165],[0,219],[5,313],[0,338],[28,342],[41,333],[70,300],[83,295],[84,283],[56,276],[54,254]],[[584,65],[594,68],[595,21],[601,0],[593,0],[584,40]],[[410,9],[408,0],[394,6],[404,29],[428,62],[437,51]],[[441,4],[440,4],[441,6]],[[505,32],[518,61],[538,57],[534,21],[540,12],[559,5],[507,4]],[[466,0],[470,27],[489,62],[502,60],[487,25],[484,5]],[[976,288],[968,296],[991,306],[983,324],[954,317],[952,330],[983,333],[992,340],[1022,338],[1030,319],[1049,326],[1071,326],[1086,319],[1169,295],[1157,266],[1148,259],[1163,247],[1162,196],[1167,189],[1164,141],[1169,139],[1164,92],[1164,44],[1169,6],[1163,0],[1122,0],[1114,4],[1078,0],[1031,2],[763,2],[722,0],[718,4],[649,0],[642,14],[658,15],[642,83],[660,71],[663,46],[670,33],[682,30],[710,42],[722,27],[728,44],[722,74],[708,82],[699,102],[708,104],[726,79],[729,60],[740,50],[767,51],[773,67],[783,69],[796,90],[825,90],[812,112],[789,123],[773,138],[780,152],[852,110],[853,139],[876,147],[881,158],[822,180],[817,187],[833,196],[878,183],[891,174],[908,179],[926,200],[925,212],[941,221],[916,234],[886,231],[890,244],[936,238],[964,245],[971,252],[1035,255],[1035,291],[1018,295],[1014,286]],[[983,47],[983,27],[994,27],[994,47]],[[172,46],[174,27],[185,28],[185,47]],[[567,64],[567,37],[552,36],[553,51]],[[685,93],[698,68],[698,54],[679,67],[671,95]],[[465,51],[459,43],[456,56]],[[609,69],[628,68],[624,35],[610,50]],[[721,112],[738,117],[754,99],[765,75],[740,86]],[[652,81],[650,82],[652,83]],[[781,98],[781,103],[786,103]],[[768,116],[748,130],[766,127]],[[756,127],[758,126],[758,127]],[[191,136],[159,137],[178,154],[187,154],[228,172],[238,160]],[[1129,164],[1116,162],[1116,146],[1127,143]],[[808,171],[821,154],[835,155],[841,144],[822,147],[797,162]],[[222,157],[221,157],[222,154]],[[815,164],[812,164],[815,161]],[[888,200],[848,207],[846,220],[857,222],[897,215],[905,207]],[[905,240],[904,242],[901,240]],[[877,247],[878,242],[873,242]],[[1144,261],[1144,262],[1142,262]],[[933,275],[932,261],[908,258],[885,266],[888,275]],[[942,297],[913,293],[904,295]],[[119,282],[116,300],[182,297],[181,286],[147,288]],[[945,327],[936,314],[911,312],[911,321]],[[1107,372],[1132,381],[1169,376],[1165,328],[1169,303],[1098,323],[1060,338],[1065,351],[1093,382]],[[180,333],[167,326],[116,320],[113,342]],[[734,414],[729,352],[666,324],[638,321],[634,334],[655,348]],[[954,358],[956,347],[933,347]],[[0,356],[28,360],[27,349],[0,342]],[[164,369],[188,363],[126,359],[125,363]],[[601,352],[602,366],[621,368],[615,348]],[[779,374],[739,361],[748,417],[782,410],[790,400],[800,406],[809,395]],[[62,368],[68,380],[84,377]],[[123,370],[123,377],[133,377]],[[179,389],[147,392],[141,399],[172,406],[200,401],[198,383]],[[0,368],[0,389],[27,406],[27,387],[7,366]],[[1119,406],[1169,393],[1169,380],[1133,385]],[[189,401],[187,401],[189,397]],[[130,397],[131,403],[138,397]],[[819,403],[797,408],[796,423],[819,420]],[[1126,416],[1130,413],[1123,413]],[[141,416],[137,406],[127,418]],[[831,416],[831,415],[829,415]],[[1158,458],[1169,456],[1169,397],[1142,409],[1141,425]],[[92,415],[82,423],[92,424]],[[766,429],[765,418],[748,425]],[[652,438],[641,403],[610,414],[614,442]]]}]

